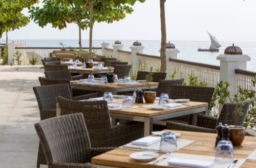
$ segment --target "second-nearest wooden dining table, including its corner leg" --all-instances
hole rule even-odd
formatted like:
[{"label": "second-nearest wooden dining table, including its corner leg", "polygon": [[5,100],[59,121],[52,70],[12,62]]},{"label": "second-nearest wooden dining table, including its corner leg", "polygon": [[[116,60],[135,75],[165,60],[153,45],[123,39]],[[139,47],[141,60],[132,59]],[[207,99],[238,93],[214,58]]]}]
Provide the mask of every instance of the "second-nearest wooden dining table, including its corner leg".
[{"label": "second-nearest wooden dining table, including its corner leg", "polygon": [[[115,102],[114,104],[119,104],[121,106],[122,102]],[[154,121],[197,114],[208,109],[208,103],[194,101],[182,103],[182,106],[180,107],[166,108],[163,110],[152,110],[150,106],[154,105],[158,105],[158,101],[155,101],[155,103],[134,103],[133,108],[109,108],[112,125],[117,123],[117,119],[144,122],[144,136],[148,136],[153,131]]]}]

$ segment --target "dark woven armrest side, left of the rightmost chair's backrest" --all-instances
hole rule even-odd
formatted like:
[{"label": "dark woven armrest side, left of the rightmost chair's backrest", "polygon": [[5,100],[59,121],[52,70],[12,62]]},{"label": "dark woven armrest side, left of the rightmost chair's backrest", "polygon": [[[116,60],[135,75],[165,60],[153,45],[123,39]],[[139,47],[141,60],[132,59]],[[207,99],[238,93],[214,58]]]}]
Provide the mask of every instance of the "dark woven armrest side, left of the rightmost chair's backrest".
[{"label": "dark woven armrest side, left of the rightmost chair's backrest", "polygon": [[216,117],[197,115],[197,125],[199,127],[215,129],[218,119]]}]

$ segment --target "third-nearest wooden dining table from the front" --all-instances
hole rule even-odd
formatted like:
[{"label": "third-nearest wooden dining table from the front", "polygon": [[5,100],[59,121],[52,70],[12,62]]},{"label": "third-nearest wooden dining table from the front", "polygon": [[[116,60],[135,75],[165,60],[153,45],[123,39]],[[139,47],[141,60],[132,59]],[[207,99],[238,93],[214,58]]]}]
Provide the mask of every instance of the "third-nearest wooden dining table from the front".
[{"label": "third-nearest wooden dining table from the front", "polygon": [[[148,86],[146,85],[145,82],[140,82],[136,85],[130,85],[129,83],[127,83],[127,85],[123,85],[123,84],[124,82],[113,82],[113,83],[99,85],[99,81],[96,83],[91,83],[91,85],[90,83],[84,84],[83,82],[70,83],[72,89],[80,89],[80,90],[88,90],[88,91],[96,91],[96,92],[112,92],[112,94],[114,95],[116,95],[119,92],[134,91],[138,88],[142,90],[148,89]],[[150,87],[151,89],[157,89],[157,87],[158,87],[158,82],[151,83],[151,87]]]}]

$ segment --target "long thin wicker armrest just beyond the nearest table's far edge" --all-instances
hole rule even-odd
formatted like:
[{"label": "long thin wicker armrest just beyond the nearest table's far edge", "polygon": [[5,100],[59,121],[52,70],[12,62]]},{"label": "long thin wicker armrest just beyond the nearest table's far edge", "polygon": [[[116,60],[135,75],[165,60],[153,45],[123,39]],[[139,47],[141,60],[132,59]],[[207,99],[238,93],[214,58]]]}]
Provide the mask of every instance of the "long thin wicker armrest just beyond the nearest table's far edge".
[{"label": "long thin wicker armrest just beyond the nearest table's far edge", "polygon": [[194,125],[176,123],[172,121],[166,122],[166,129],[170,130],[181,130],[181,131],[196,131],[196,132],[212,132],[215,133],[215,129],[203,128]]}]

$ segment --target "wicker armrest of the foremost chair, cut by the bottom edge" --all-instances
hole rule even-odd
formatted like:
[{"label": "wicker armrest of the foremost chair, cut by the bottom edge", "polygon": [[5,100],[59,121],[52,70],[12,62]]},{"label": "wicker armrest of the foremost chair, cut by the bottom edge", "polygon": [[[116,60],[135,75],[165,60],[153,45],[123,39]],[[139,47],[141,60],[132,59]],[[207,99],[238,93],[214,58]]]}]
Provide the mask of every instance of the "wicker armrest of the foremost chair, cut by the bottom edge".
[{"label": "wicker armrest of the foremost chair, cut by the bottom edge", "polygon": [[61,168],[98,168],[99,166],[92,163],[52,163],[49,167],[61,167]]}]

